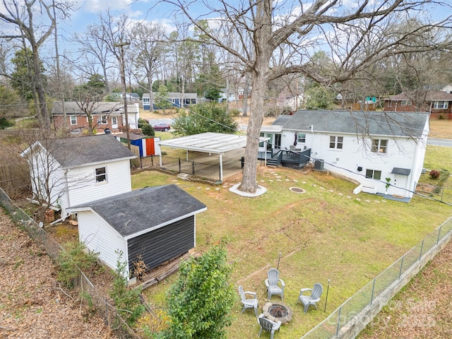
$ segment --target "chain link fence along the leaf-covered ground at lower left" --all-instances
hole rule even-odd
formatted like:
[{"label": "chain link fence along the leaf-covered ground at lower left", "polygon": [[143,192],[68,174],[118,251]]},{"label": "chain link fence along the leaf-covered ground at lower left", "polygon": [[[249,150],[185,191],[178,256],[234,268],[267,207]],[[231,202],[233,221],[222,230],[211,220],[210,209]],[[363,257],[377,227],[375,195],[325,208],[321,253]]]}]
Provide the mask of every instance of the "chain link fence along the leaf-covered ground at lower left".
[{"label": "chain link fence along the leaf-covered ground at lower left", "polygon": [[[50,234],[45,232],[35,220],[16,206],[3,189],[0,189],[0,205],[8,211],[11,220],[16,225],[23,227],[37,244],[44,246],[47,254],[54,262],[57,262],[59,253],[64,251],[64,248]],[[118,314],[117,309],[109,303],[107,297],[91,283],[81,270],[80,279],[78,279],[74,288],[81,291],[81,295],[84,296],[90,307],[95,307],[107,326],[117,331],[121,338],[141,338],[126,324],[126,321]]]}]

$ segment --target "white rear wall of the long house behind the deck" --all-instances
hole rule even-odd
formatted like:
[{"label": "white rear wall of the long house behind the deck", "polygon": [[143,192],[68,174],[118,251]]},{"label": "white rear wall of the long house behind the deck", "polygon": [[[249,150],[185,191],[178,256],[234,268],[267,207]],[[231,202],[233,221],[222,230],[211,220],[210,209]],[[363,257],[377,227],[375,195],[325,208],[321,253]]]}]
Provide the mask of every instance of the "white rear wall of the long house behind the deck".
[{"label": "white rear wall of the long house behind the deck", "polygon": [[[300,132],[298,132],[300,133]],[[295,131],[284,131],[281,148],[293,145]],[[343,148],[330,148],[330,136],[343,136]],[[426,136],[425,136],[426,137]],[[363,186],[376,189],[377,193],[386,193],[386,177],[391,178],[388,194],[411,197],[415,183],[420,177],[425,154],[425,140],[416,143],[410,138],[393,138],[391,136],[375,136],[388,141],[387,153],[372,153],[371,140],[350,134],[307,132],[306,143],[311,148],[311,157],[324,160],[323,168],[354,179]],[[297,145],[297,148],[302,148]],[[331,165],[330,165],[331,164]],[[362,167],[362,171],[358,171]],[[409,168],[409,176],[391,174],[393,167]],[[366,169],[381,171],[380,182],[367,179]],[[371,190],[375,191],[375,190]]]}]

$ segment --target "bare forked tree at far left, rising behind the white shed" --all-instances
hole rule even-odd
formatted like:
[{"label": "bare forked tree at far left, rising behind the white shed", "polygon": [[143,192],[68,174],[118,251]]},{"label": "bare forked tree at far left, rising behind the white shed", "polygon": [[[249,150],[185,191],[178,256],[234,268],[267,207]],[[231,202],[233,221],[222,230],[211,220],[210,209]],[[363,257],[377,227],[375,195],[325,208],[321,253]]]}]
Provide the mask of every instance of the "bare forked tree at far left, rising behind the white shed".
[{"label": "bare forked tree at far left, rising behind the white shed", "polygon": [[[56,16],[66,17],[72,10],[72,4],[66,1],[44,1],[44,0],[23,0],[6,1],[3,0],[6,13],[0,13],[0,20],[12,25],[15,31],[12,34],[0,33],[1,38],[19,39],[23,44],[23,49],[31,49],[31,59],[29,61],[29,73],[32,74],[33,97],[35,109],[40,126],[44,129],[50,128],[50,117],[45,100],[45,90],[42,81],[40,47],[52,35],[57,25]],[[35,21],[35,13],[41,19]],[[42,15],[44,13],[44,15]],[[6,26],[3,26],[6,29]],[[11,28],[11,26],[10,26]]]}]

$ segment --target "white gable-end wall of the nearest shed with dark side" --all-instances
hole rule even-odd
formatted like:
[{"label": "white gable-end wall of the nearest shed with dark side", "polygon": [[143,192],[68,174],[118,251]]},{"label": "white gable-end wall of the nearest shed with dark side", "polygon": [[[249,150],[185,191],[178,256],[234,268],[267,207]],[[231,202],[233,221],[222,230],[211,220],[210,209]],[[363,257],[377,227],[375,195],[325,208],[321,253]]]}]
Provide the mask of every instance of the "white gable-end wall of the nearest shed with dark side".
[{"label": "white gable-end wall of the nearest shed with dark side", "polygon": [[[114,206],[112,206],[114,208]],[[127,242],[104,219],[92,210],[78,212],[78,239],[88,249],[99,253],[99,258],[113,270],[117,268],[118,251],[122,251],[121,261],[129,267]],[[129,272],[126,272],[129,276]]]}]

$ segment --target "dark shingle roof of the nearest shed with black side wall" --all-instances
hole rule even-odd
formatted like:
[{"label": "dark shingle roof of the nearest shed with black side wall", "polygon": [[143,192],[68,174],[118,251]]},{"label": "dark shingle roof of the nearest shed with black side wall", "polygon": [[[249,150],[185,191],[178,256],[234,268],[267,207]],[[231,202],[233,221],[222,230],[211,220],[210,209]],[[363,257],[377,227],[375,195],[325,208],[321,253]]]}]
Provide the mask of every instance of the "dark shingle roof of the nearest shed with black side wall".
[{"label": "dark shingle roof of the nearest shed with black side wall", "polygon": [[83,207],[93,208],[123,237],[206,209],[201,201],[174,184],[145,187],[71,208]]}]

